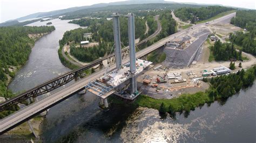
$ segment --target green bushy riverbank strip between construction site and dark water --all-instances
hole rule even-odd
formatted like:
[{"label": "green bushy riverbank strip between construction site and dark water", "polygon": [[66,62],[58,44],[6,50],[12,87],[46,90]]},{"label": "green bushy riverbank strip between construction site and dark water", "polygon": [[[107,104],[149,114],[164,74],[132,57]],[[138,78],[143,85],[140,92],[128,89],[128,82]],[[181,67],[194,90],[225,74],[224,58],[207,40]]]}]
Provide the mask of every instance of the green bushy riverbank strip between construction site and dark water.
[{"label": "green bushy riverbank strip between construction site and dark water", "polygon": [[[214,77],[209,81],[210,88],[206,91],[200,91],[196,94],[183,94],[173,99],[154,99],[147,95],[139,96],[133,103],[138,106],[160,109],[161,104],[164,104],[164,111],[166,112],[187,112],[194,110],[198,106],[205,103],[212,103],[214,101],[225,101],[228,97],[239,92],[242,88],[250,87],[256,76],[256,67],[242,70],[238,74],[230,74],[227,76]],[[231,83],[235,81],[235,85],[225,85],[224,83]],[[236,84],[238,83],[238,84]],[[224,88],[224,87],[225,88]],[[171,111],[170,111],[171,110]]]}]

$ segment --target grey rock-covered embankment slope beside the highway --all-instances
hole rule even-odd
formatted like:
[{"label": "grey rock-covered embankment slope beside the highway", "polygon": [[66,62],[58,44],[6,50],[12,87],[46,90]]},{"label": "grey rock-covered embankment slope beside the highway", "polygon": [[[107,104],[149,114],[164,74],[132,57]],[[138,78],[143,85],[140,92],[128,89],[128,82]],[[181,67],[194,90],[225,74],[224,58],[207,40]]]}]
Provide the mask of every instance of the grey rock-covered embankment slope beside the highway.
[{"label": "grey rock-covered embankment slope beside the highway", "polygon": [[194,41],[185,50],[173,49],[166,47],[164,52],[166,53],[166,59],[163,62],[163,66],[171,68],[181,68],[190,65],[198,52],[199,47],[207,39],[208,31],[204,35],[201,35],[196,41]]}]

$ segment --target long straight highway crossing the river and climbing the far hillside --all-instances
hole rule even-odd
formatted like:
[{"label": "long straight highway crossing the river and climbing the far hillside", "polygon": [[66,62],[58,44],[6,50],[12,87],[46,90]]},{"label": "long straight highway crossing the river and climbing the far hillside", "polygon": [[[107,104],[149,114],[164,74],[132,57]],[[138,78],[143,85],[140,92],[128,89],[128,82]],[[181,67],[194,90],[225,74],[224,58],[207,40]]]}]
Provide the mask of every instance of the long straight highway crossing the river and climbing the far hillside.
[{"label": "long straight highway crossing the river and climbing the far hillside", "polygon": [[[231,13],[230,15],[212,20],[209,22],[209,24],[215,24],[215,23],[221,22],[223,20],[226,20],[228,18],[231,18],[233,16],[235,16],[235,13]],[[193,25],[192,27],[198,28],[198,27],[204,26],[204,25],[205,24],[197,24],[197,25]],[[175,37],[177,37],[181,34],[185,34],[185,32],[186,32],[186,30],[182,30],[178,33],[172,34],[169,37],[158,41],[156,44],[153,44],[153,45],[143,49],[142,51],[137,52],[136,57],[141,58],[142,56],[144,56],[148,53],[151,53],[152,51],[158,49],[159,47],[164,46],[166,44],[166,42],[174,39]],[[126,58],[122,61],[122,63],[126,63],[126,62],[129,62],[129,58]],[[116,68],[116,65],[112,65],[109,68],[109,70],[113,70],[114,68]],[[51,106],[63,101],[64,99],[68,98],[72,94],[75,94],[77,91],[83,89],[85,87],[85,85],[87,83],[89,83],[90,81],[96,80],[96,78],[98,78],[99,76],[104,75],[105,72],[106,72],[106,68],[103,70],[100,70],[96,73],[93,73],[90,76],[84,77],[81,80],[71,84],[69,87],[65,87],[64,89],[55,92],[55,94],[47,96],[44,99],[42,99],[41,101],[32,103],[32,104],[26,106],[26,108],[21,109],[15,113],[13,113],[12,115],[0,120],[0,134],[3,134],[4,132],[11,130],[11,128],[16,127],[17,125],[32,118],[33,116],[37,115],[38,113],[51,108]]]}]

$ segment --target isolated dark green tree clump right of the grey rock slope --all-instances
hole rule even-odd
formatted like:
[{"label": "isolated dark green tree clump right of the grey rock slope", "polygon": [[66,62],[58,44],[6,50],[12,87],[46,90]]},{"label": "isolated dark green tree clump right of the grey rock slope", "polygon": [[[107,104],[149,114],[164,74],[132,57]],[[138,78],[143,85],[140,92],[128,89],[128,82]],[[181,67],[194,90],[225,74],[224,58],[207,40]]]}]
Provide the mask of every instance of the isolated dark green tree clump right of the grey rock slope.
[{"label": "isolated dark green tree clump right of the grey rock slope", "polygon": [[217,40],[211,47],[215,61],[240,60],[242,61],[242,51],[235,51],[234,44],[224,43]]}]

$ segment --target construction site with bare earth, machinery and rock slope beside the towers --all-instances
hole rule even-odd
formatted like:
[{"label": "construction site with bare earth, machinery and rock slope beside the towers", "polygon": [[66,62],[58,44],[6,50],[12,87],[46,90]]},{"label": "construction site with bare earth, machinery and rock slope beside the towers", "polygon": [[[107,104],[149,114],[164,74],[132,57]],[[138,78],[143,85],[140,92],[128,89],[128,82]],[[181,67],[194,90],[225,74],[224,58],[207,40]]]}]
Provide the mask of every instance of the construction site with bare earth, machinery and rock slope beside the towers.
[{"label": "construction site with bare earth, machinery and rock slope beside the towers", "polygon": [[[181,94],[193,94],[208,89],[209,84],[203,82],[204,78],[210,80],[214,76],[230,74],[232,72],[228,68],[230,62],[208,62],[210,49],[207,38],[209,37],[211,44],[214,44],[215,40],[220,39],[217,32],[223,30],[227,37],[229,34],[227,32],[239,30],[228,22],[223,24],[224,27],[214,24],[204,24],[200,28],[189,27],[186,34],[178,35],[167,42],[159,52],[166,53],[165,61],[155,63],[153,67],[151,65],[152,68],[138,77],[138,84],[143,89],[142,94],[156,99],[176,98]],[[224,39],[220,40],[223,42]],[[253,62],[251,61],[253,59],[251,57],[245,63]],[[239,69],[233,72],[237,70]]]}]

